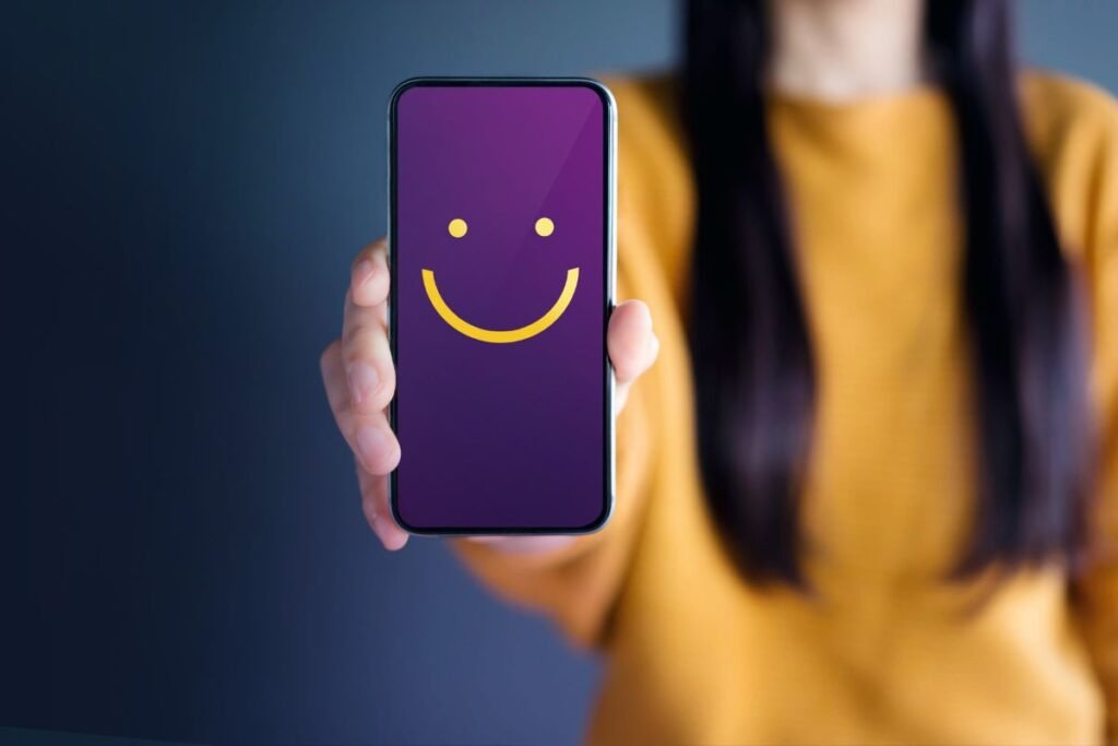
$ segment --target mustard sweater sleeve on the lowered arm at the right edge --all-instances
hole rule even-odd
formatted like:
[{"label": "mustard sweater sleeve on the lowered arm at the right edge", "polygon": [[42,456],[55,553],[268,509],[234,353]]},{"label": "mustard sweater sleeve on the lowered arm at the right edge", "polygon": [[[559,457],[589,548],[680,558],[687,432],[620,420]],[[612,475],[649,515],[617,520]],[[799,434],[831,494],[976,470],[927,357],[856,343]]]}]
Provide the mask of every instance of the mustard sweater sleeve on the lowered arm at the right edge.
[{"label": "mustard sweater sleeve on the lowered arm at the right edge", "polygon": [[1091,393],[1099,433],[1098,550],[1077,583],[1079,621],[1107,710],[1107,743],[1118,744],[1118,106],[1107,101],[1090,168],[1084,242],[1092,319]]}]

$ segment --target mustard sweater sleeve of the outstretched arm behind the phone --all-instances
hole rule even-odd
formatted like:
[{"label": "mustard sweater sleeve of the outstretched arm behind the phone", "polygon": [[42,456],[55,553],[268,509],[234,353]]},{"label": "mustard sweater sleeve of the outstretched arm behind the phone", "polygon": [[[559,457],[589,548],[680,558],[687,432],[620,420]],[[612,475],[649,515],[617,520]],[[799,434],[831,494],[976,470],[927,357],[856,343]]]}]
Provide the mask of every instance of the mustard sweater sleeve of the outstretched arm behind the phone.
[{"label": "mustard sweater sleeve of the outstretched arm behind the phone", "polygon": [[[608,81],[618,102],[618,301],[648,303],[653,325],[678,317],[675,299],[665,292],[663,216],[644,198],[656,183],[662,147],[651,135],[660,126],[638,84]],[[662,190],[657,190],[662,191]],[[661,334],[662,355],[682,343]],[[616,419],[616,504],[600,531],[578,537],[557,549],[533,554],[470,539],[452,542],[466,567],[496,595],[553,620],[579,646],[607,643],[609,621],[639,541],[650,500],[651,473],[662,427],[657,366],[632,387]]]}]

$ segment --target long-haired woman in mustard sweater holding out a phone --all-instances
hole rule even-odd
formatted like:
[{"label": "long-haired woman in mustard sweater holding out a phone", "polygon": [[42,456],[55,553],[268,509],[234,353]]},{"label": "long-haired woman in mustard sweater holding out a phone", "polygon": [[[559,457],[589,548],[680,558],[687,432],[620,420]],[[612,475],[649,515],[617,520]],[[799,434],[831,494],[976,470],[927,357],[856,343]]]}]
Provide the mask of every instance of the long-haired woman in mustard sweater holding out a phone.
[{"label": "long-haired woman in mustard sweater holding out a phone", "polygon": [[[617,513],[456,542],[604,650],[590,742],[1118,733],[1118,107],[1010,6],[695,0],[680,79],[610,83]],[[387,284],[323,374],[397,549]]]}]

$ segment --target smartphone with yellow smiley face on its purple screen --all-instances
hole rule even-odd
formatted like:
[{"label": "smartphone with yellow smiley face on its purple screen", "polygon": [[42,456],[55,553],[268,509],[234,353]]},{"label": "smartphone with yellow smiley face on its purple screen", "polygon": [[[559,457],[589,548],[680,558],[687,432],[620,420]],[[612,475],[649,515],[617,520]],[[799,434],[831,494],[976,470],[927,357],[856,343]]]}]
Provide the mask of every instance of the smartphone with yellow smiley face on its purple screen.
[{"label": "smartphone with yellow smiley face on its purple screen", "polygon": [[582,533],[614,502],[616,104],[586,78],[413,78],[389,103],[392,516]]}]

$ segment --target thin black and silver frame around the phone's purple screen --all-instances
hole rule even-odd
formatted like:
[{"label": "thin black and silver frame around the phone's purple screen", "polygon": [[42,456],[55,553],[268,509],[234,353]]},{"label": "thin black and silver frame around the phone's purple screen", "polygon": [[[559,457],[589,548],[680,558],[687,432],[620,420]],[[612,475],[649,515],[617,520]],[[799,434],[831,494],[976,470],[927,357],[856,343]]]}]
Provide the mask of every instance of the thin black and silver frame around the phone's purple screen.
[{"label": "thin black and silver frame around the phone's purple screen", "polygon": [[[396,267],[396,135],[397,135],[397,104],[400,97],[415,87],[585,87],[594,91],[603,103],[605,115],[604,176],[606,179],[605,189],[605,252],[604,273],[605,277],[605,313],[601,325],[601,357],[605,361],[603,370],[604,391],[604,434],[606,448],[603,454],[603,506],[601,512],[586,526],[539,526],[539,527],[492,527],[492,526],[449,526],[429,527],[411,526],[400,516],[398,507],[398,492],[396,483],[396,470],[392,470],[388,478],[388,504],[392,520],[397,526],[408,533],[417,536],[577,536],[593,533],[601,529],[614,512],[616,501],[616,437],[614,426],[614,387],[616,385],[614,368],[609,361],[609,353],[606,348],[606,331],[609,325],[609,318],[613,315],[616,305],[617,294],[617,103],[609,88],[600,82],[589,77],[413,77],[404,81],[392,89],[388,102],[388,268],[391,277],[389,300],[388,300],[388,329],[389,348],[392,360],[398,360],[396,349],[396,308],[397,308],[397,267]],[[392,396],[388,406],[388,419],[392,432],[399,434],[398,423],[398,399],[399,395]],[[404,456],[407,457],[406,454]]]}]

